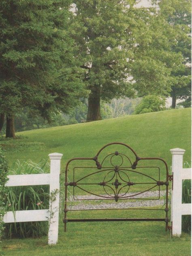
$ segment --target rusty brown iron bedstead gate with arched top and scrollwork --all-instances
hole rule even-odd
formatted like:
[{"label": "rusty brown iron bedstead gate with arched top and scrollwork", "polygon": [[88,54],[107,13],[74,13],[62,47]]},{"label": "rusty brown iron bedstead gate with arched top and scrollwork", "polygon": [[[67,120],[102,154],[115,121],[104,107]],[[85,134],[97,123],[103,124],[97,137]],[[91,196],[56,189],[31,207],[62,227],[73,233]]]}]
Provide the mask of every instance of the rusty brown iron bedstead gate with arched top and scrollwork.
[{"label": "rusty brown iron bedstead gate with arched top and scrollwork", "polygon": [[[118,151],[113,151],[113,153],[107,154],[102,161],[99,161],[99,156],[101,152],[107,148],[110,145],[123,145],[126,147],[126,149],[129,149],[133,156],[134,156],[134,162],[130,160],[130,157],[128,157],[126,154],[120,153]],[[116,163],[116,157],[118,156],[119,163]],[[105,162],[108,160],[109,166],[105,166]],[[160,180],[160,167],[156,165],[150,165],[150,166],[138,166],[138,162],[142,162],[145,160],[149,161],[155,161],[159,160],[161,163],[163,163],[165,168],[165,176],[162,180]],[[73,166],[73,181],[68,182],[68,171],[69,171],[69,165],[74,161],[91,161],[95,162],[94,167],[92,166]],[[124,166],[126,164],[127,166]],[[124,167],[123,167],[124,166]],[[158,172],[158,178],[154,178],[152,176],[147,175],[146,173],[141,172],[141,169],[156,169]],[[83,169],[86,171],[89,171],[89,173],[83,177],[75,177],[75,171],[78,169]],[[94,169],[94,171],[90,171],[90,169]],[[134,175],[141,175],[142,178],[147,178],[148,182],[144,180],[145,182],[138,182],[137,179],[132,180],[130,179],[130,174]],[[93,176],[99,176],[99,180],[93,180]],[[87,179],[87,182],[86,182]],[[83,181],[85,180],[85,181]],[[149,182],[150,180],[150,182]],[[66,164],[65,169],[65,204],[64,204],[64,230],[66,231],[66,223],[67,222],[79,222],[79,221],[164,221],[166,223],[166,230],[170,229],[169,218],[168,218],[168,186],[169,186],[169,180],[171,180],[171,176],[169,176],[168,173],[168,167],[166,162],[162,158],[141,158],[137,156],[137,154],[134,152],[132,148],[130,148],[129,145],[126,145],[125,143],[119,143],[119,142],[113,142],[105,145],[102,147],[99,152],[94,156],[93,158],[72,158],[68,163]],[[135,192],[135,193],[128,193],[128,191],[131,191],[130,188],[145,184],[149,185],[149,188],[145,189],[144,191]],[[96,198],[85,198],[85,199],[78,199],[78,200],[98,200],[98,198],[102,198],[102,200],[115,200],[115,202],[118,202],[119,200],[130,200],[130,199],[137,199],[137,200],[158,200],[160,199],[160,186],[166,187],[166,195],[165,195],[165,208],[122,208],[122,210],[130,210],[130,209],[137,209],[137,210],[164,210],[165,211],[165,217],[164,218],[103,218],[103,219],[67,219],[67,212],[68,211],[74,211],[73,209],[67,208],[68,203],[68,186],[73,187],[73,199],[77,200],[75,198],[75,188],[81,189],[81,191],[84,191],[88,193],[89,195],[94,195]],[[102,193],[94,193],[92,190],[88,190],[88,186],[94,186],[102,188]],[[143,193],[150,191],[151,189],[154,189],[155,187],[158,187],[158,198],[146,198],[146,197],[138,197],[138,195],[142,195]],[[111,191],[111,193],[109,192]],[[107,210],[115,210],[116,208],[110,208]],[[103,210],[103,209],[81,209],[81,210]]]}]

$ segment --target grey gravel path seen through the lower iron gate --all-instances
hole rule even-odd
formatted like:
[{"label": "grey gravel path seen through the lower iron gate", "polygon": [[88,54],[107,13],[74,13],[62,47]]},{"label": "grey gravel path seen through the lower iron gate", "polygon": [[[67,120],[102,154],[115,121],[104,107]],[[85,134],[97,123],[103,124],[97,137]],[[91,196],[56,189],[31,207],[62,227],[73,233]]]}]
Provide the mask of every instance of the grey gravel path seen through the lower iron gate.
[{"label": "grey gravel path seen through the lower iron gate", "polygon": [[[160,196],[164,196],[166,191],[160,191]],[[128,195],[134,195],[135,193],[128,193]],[[148,197],[157,197],[158,198],[159,191],[146,191],[142,193],[142,195],[137,195],[134,197],[130,198],[148,198]],[[76,200],[79,199],[95,199],[97,198],[98,200],[102,200],[101,197],[96,197],[94,195],[77,195],[75,196]],[[129,200],[127,202],[111,202],[111,203],[105,203],[101,202],[99,204],[83,204],[81,201],[78,205],[73,205],[73,198],[70,198],[71,204],[68,205],[68,209],[70,210],[90,210],[90,209],[109,209],[109,208],[116,208],[116,209],[122,209],[122,208],[142,208],[142,207],[149,207],[149,206],[157,206],[157,205],[162,205],[164,204],[164,200],[138,200],[136,202],[130,202]],[[109,201],[108,201],[109,202]]]}]

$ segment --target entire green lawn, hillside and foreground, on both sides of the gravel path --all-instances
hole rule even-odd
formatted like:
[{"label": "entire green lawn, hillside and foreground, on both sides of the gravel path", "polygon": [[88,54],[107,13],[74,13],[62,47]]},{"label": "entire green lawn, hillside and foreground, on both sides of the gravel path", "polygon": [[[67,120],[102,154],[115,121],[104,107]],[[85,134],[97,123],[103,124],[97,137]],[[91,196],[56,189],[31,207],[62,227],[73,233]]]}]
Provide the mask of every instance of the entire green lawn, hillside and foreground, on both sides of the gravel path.
[{"label": "entire green lawn, hillside and foreground, on both sides of the gravel path", "polygon": [[[170,169],[172,156],[169,150],[172,148],[185,149],[184,161],[190,162],[190,124],[191,108],[175,109],[19,132],[17,135],[28,138],[1,143],[8,149],[10,165],[16,159],[20,162],[31,159],[38,163],[42,158],[47,159],[49,153],[59,152],[63,154],[63,171],[70,158],[93,157],[103,145],[118,141],[130,145],[140,157],[163,158]],[[131,152],[121,146],[107,148],[102,157],[116,150],[134,159]],[[149,171],[151,173],[153,170]],[[164,211],[158,212],[164,216]],[[88,211],[85,215],[75,212],[68,213],[68,217],[70,214],[78,217],[146,217],[146,213],[143,216],[142,211],[135,210]],[[157,217],[157,211],[147,211],[147,214],[147,217]],[[182,234],[181,238],[171,238],[170,232],[165,232],[163,222],[68,223],[64,233],[62,217],[60,221],[58,245],[49,247],[47,237],[4,240],[5,255],[190,256],[190,236]]]}]

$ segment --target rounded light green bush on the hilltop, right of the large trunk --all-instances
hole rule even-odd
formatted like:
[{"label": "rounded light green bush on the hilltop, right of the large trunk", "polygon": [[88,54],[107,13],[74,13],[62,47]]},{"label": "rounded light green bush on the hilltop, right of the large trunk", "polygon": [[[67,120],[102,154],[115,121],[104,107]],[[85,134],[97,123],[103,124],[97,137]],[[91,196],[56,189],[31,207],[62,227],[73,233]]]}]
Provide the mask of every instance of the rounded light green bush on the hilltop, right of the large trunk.
[{"label": "rounded light green bush on the hilltop, right of the large trunk", "polygon": [[156,95],[145,96],[139,105],[137,105],[134,114],[143,114],[165,110],[165,98]]}]

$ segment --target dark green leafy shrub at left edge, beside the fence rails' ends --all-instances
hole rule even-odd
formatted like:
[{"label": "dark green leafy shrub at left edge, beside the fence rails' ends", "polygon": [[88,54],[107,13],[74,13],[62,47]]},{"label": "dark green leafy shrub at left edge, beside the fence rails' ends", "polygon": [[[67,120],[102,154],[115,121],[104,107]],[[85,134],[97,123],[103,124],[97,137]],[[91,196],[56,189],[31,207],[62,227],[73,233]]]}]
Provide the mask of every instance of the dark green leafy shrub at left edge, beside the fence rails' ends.
[{"label": "dark green leafy shrub at left edge, beside the fence rails' ends", "polygon": [[8,180],[8,163],[4,155],[4,151],[0,147],[0,254],[2,249],[2,234],[4,232],[4,225],[3,225],[3,216],[5,213],[5,197],[7,193],[7,188],[5,187],[5,184]]}]

